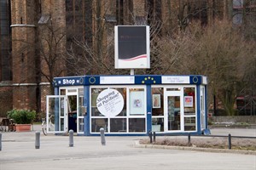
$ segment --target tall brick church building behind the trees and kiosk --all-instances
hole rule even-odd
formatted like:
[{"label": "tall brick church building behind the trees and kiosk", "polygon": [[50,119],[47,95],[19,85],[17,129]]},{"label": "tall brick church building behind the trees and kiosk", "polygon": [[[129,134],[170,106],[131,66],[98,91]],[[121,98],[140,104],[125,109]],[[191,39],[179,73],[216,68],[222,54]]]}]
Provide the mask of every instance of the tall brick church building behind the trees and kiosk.
[{"label": "tall brick church building behind the trees and kiosk", "polygon": [[[44,112],[53,77],[76,75],[65,58],[74,38],[87,42],[99,54],[107,51],[104,47],[110,43],[115,25],[149,25],[151,31],[170,34],[191,20],[207,24],[215,18],[231,19],[241,8],[255,10],[255,1],[249,2],[0,0],[0,116],[12,108]],[[234,22],[241,17],[236,15]],[[253,14],[250,18],[255,20]]]}]

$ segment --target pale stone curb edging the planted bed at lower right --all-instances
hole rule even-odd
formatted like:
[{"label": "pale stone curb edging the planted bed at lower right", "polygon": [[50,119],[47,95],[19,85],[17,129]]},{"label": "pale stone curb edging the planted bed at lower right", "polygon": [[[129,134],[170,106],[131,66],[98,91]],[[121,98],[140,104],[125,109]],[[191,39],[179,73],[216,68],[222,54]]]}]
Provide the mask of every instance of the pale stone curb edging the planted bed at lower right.
[{"label": "pale stone curb edging the planted bed at lower right", "polygon": [[163,149],[163,150],[191,150],[191,151],[204,151],[213,153],[232,153],[232,154],[243,154],[243,155],[254,155],[256,151],[253,150],[226,150],[226,149],[212,149],[212,148],[197,148],[197,147],[185,147],[185,146],[167,146],[157,144],[140,144],[139,141],[135,141],[133,144],[135,148],[149,148],[149,149]]}]

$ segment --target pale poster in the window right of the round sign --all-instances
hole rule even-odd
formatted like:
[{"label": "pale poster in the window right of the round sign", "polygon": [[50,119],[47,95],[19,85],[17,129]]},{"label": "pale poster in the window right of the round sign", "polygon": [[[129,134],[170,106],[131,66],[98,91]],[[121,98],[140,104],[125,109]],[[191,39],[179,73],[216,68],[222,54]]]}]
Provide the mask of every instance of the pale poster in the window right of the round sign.
[{"label": "pale poster in the window right of the round sign", "polygon": [[145,100],[143,91],[132,91],[130,93],[130,114],[143,115],[145,112]]}]

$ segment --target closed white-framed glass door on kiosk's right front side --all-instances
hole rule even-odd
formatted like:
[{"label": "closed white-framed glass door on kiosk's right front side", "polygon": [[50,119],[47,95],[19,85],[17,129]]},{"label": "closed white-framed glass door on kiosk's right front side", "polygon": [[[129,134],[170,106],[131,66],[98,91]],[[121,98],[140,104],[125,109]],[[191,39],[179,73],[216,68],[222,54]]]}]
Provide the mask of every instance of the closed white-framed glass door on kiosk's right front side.
[{"label": "closed white-framed glass door on kiosk's right front side", "polygon": [[183,100],[181,92],[166,91],[165,95],[165,129],[166,131],[181,131],[183,130]]}]

